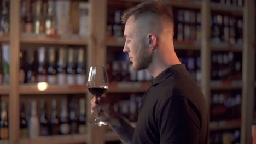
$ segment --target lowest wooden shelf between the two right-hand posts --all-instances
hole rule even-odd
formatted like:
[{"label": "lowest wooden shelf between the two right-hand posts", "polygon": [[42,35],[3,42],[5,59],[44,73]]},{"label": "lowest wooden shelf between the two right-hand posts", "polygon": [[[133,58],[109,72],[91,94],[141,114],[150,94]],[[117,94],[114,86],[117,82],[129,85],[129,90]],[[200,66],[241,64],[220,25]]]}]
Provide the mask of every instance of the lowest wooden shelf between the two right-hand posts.
[{"label": "lowest wooden shelf between the two right-hand posts", "polygon": [[226,121],[226,122],[223,122],[222,124],[216,124],[216,125],[210,124],[210,131],[230,130],[230,129],[239,129],[239,128],[241,128],[240,119]]}]

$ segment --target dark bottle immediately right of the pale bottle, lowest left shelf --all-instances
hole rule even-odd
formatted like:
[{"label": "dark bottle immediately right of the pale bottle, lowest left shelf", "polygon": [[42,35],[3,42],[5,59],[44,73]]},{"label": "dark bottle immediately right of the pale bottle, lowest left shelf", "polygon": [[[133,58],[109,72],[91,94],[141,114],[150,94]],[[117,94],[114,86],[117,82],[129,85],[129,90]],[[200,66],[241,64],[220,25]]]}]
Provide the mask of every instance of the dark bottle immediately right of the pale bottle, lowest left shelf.
[{"label": "dark bottle immediately right of the pale bottle, lowest left shelf", "polygon": [[44,100],[41,100],[40,102],[40,112],[40,135],[46,136],[49,135],[49,122],[46,115],[46,105]]}]

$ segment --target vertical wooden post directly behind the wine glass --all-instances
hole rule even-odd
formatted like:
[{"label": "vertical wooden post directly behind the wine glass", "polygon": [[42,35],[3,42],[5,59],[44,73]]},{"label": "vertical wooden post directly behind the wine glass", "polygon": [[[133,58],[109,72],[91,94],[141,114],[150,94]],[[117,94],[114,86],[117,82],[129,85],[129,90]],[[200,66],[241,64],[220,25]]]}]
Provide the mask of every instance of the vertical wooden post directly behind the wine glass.
[{"label": "vertical wooden post directly behind the wine glass", "polygon": [[[106,61],[106,21],[107,21],[107,0],[91,0],[89,1],[89,19],[90,19],[90,38],[88,41],[88,71],[91,65],[105,65]],[[90,100],[92,95],[87,93],[87,113],[88,122],[91,121],[90,116]],[[104,127],[88,126],[88,143],[103,144]],[[102,137],[99,137],[102,136]]]}]

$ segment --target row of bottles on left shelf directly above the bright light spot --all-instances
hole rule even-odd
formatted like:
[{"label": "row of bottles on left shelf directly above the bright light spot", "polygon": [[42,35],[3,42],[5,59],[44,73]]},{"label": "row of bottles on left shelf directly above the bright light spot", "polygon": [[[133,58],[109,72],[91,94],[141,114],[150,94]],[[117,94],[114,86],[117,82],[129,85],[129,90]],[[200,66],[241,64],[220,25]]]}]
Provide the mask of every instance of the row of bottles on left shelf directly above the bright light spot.
[{"label": "row of bottles on left shelf directly above the bright light spot", "polygon": [[22,51],[20,69],[24,83],[48,82],[51,85],[84,85],[85,51],[72,47],[39,47]]}]

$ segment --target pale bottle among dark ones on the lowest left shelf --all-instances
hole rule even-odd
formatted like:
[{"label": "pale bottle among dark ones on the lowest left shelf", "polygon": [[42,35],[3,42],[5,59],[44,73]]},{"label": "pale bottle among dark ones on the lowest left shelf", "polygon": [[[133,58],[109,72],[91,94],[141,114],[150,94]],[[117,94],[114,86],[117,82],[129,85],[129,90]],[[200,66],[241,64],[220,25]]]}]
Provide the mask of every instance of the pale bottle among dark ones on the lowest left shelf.
[{"label": "pale bottle among dark ones on the lowest left shelf", "polygon": [[39,119],[37,117],[37,103],[31,102],[31,116],[28,123],[28,138],[37,139],[39,136]]}]

